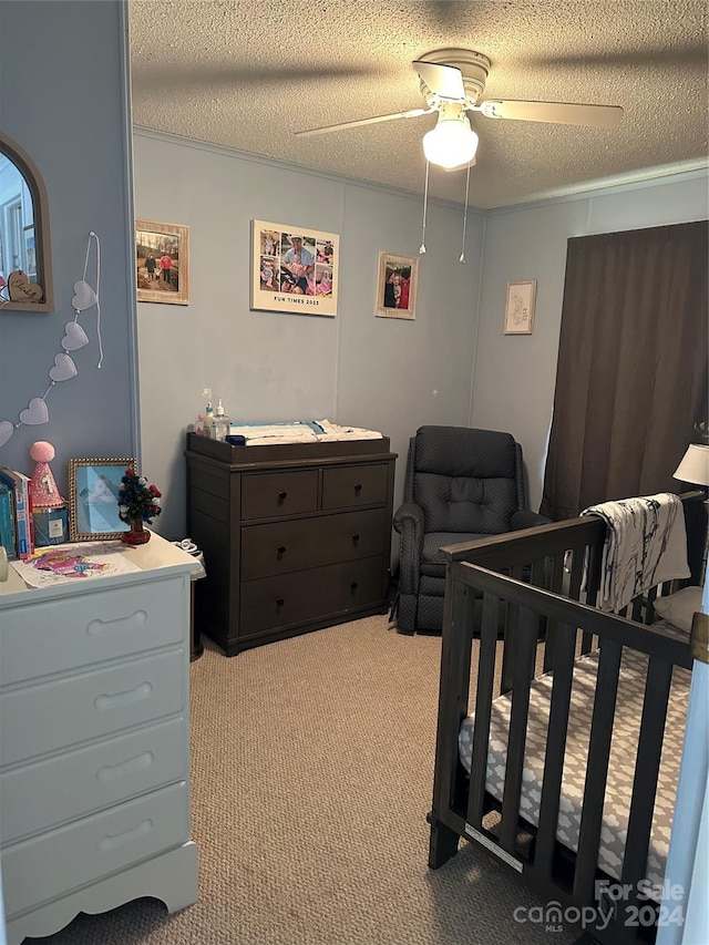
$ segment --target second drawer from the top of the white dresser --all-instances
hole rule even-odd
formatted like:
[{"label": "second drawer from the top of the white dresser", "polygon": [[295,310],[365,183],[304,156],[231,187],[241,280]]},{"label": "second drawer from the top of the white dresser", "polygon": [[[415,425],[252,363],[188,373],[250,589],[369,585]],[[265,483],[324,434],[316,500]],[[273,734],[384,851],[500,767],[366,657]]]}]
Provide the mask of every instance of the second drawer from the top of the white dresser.
[{"label": "second drawer from the top of the white dresser", "polygon": [[177,715],[184,649],[0,694],[0,766]]}]

